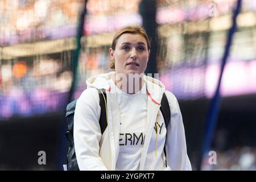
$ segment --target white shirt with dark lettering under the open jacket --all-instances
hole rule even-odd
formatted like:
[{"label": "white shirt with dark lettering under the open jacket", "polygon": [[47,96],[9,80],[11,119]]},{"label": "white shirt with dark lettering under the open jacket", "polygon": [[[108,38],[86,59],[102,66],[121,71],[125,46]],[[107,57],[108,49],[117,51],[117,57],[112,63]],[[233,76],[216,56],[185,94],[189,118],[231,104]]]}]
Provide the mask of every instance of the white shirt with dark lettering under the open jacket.
[{"label": "white shirt with dark lettering under the open jacket", "polygon": [[[116,170],[139,170],[144,131],[147,122],[147,94],[146,85],[135,94],[122,92],[113,82],[109,81],[113,88],[115,99],[120,111],[120,137],[119,155]],[[138,104],[137,104],[138,103]]]}]

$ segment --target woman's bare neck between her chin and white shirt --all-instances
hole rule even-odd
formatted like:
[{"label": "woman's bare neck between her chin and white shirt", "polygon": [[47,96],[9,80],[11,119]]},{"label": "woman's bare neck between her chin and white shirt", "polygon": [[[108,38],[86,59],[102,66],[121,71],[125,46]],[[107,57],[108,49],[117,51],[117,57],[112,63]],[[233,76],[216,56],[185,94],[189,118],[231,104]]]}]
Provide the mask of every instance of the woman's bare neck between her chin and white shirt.
[{"label": "woman's bare neck between her chin and white shirt", "polygon": [[127,75],[115,73],[112,80],[122,92],[128,94],[139,92],[144,84],[143,73],[140,75],[138,73],[129,73]]}]

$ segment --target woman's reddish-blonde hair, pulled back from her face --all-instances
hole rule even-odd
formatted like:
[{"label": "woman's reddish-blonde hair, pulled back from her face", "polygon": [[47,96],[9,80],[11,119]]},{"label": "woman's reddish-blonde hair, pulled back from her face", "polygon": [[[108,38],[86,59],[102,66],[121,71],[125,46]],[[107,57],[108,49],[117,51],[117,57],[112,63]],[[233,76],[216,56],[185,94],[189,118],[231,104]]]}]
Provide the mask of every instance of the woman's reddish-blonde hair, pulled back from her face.
[{"label": "woman's reddish-blonde hair, pulled back from her face", "polygon": [[[139,26],[139,25],[123,27],[117,33],[115,33],[114,38],[112,40],[112,46],[111,46],[111,48],[113,50],[115,50],[115,46],[117,44],[117,40],[123,34],[140,34],[140,35],[142,35],[146,39],[147,49],[150,50],[151,39],[148,38],[148,35],[147,35],[146,31],[144,30],[144,28]],[[115,69],[115,61],[114,61],[114,59],[112,59],[110,61],[110,68],[111,69]]]}]

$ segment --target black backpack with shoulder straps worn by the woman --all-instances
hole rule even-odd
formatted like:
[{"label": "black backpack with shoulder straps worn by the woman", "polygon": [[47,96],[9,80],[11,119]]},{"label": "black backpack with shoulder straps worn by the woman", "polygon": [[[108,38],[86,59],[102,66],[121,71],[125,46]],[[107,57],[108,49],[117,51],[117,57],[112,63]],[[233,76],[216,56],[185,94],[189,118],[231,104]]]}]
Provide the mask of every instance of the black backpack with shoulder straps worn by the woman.
[{"label": "black backpack with shoulder straps worn by the woman", "polygon": [[[106,92],[104,89],[102,89],[102,93],[100,90],[98,90],[98,95],[100,97],[100,106],[101,106],[101,115],[100,115],[100,127],[101,127],[101,134],[104,133],[106,127],[107,127],[107,122],[106,122],[106,105],[104,101],[104,97],[106,98]],[[77,164],[76,160],[76,152],[75,152],[75,145],[74,145],[74,138],[73,138],[73,124],[74,124],[74,113],[76,109],[76,100],[70,102],[67,105],[66,108],[66,115],[65,117],[67,118],[68,122],[68,130],[66,132],[66,137],[68,140],[68,152],[67,152],[67,169],[68,171],[79,171],[79,166]],[[160,110],[163,114],[164,118],[164,123],[166,124],[166,128],[168,126],[168,123],[171,119],[171,112],[170,112],[170,106],[166,97],[166,94],[163,93],[163,97],[161,100],[161,107]],[[166,146],[164,144],[164,154],[166,155]],[[167,163],[166,163],[167,166]]]}]

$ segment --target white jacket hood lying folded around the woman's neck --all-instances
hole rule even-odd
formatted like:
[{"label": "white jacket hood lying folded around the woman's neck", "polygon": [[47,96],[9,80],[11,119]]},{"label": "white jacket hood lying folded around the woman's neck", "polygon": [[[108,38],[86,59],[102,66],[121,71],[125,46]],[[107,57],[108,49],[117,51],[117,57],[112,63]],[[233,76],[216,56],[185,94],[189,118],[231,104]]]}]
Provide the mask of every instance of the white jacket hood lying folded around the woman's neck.
[{"label": "white jacket hood lying folded around the woman's neck", "polygon": [[[87,88],[93,87],[97,89],[106,89],[111,92],[109,80],[114,76],[115,72],[104,73],[92,76],[86,80]],[[163,83],[150,76],[143,76],[147,88],[147,94],[152,101],[160,104],[164,90],[166,90]]]}]

